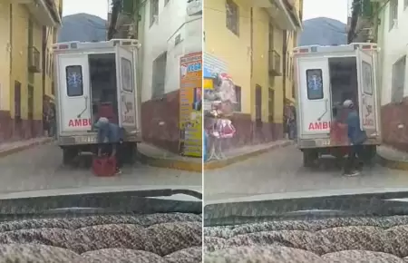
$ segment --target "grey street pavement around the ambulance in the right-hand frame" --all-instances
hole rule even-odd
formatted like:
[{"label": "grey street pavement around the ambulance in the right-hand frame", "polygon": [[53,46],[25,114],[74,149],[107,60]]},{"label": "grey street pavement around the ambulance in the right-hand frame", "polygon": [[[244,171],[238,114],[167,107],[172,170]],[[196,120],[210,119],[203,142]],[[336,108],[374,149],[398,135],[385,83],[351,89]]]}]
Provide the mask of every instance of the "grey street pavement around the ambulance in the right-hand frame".
[{"label": "grey street pavement around the ambulance in the right-hand frame", "polygon": [[268,151],[204,175],[205,200],[301,190],[408,187],[408,173],[379,164],[364,167],[360,176],[346,178],[327,157],[316,168],[303,167],[302,153],[291,145]]}]

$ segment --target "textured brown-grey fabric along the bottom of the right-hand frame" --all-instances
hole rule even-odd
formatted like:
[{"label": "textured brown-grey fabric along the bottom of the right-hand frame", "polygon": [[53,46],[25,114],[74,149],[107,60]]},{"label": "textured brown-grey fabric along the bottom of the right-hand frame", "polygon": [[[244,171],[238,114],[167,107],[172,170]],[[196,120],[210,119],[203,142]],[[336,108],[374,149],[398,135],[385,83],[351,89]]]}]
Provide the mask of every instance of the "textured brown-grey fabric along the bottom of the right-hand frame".
[{"label": "textured brown-grey fabric along the bottom of the right-hand frame", "polygon": [[208,227],[204,237],[204,262],[408,262],[407,216]]}]

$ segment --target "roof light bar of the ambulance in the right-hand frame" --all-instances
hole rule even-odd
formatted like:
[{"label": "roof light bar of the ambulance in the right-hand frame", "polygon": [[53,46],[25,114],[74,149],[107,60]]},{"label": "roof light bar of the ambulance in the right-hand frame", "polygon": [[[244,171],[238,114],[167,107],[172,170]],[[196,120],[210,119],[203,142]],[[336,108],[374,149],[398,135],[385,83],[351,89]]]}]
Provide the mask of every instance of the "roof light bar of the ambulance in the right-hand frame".
[{"label": "roof light bar of the ambulance in the right-hand frame", "polygon": [[352,44],[334,44],[334,45],[304,45],[297,46],[294,48],[294,54],[310,54],[316,52],[342,52],[342,51],[352,51],[356,49],[376,51],[378,50],[377,44],[375,43],[352,43]]}]

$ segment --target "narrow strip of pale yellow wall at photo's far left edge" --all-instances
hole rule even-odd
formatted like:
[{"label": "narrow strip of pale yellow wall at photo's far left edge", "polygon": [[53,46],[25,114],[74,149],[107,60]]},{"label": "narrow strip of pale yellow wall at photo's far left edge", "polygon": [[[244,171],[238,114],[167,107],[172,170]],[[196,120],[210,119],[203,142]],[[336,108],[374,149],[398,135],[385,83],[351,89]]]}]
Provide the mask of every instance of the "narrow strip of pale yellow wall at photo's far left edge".
[{"label": "narrow strip of pale yellow wall at photo's far left edge", "polygon": [[0,0],[0,110],[10,111],[10,8]]}]

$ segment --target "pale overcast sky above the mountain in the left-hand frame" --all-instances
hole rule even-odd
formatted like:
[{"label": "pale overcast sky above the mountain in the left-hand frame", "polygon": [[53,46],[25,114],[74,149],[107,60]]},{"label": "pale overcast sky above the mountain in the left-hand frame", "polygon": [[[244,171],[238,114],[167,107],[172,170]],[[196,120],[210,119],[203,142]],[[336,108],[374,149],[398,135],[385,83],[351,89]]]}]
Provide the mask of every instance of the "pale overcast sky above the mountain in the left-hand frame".
[{"label": "pale overcast sky above the mountain in the left-hand frame", "polygon": [[108,6],[108,0],[63,0],[63,16],[86,13],[106,20]]}]

